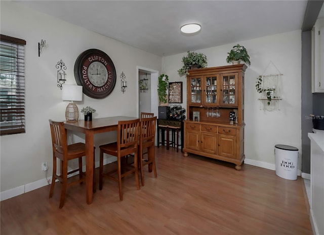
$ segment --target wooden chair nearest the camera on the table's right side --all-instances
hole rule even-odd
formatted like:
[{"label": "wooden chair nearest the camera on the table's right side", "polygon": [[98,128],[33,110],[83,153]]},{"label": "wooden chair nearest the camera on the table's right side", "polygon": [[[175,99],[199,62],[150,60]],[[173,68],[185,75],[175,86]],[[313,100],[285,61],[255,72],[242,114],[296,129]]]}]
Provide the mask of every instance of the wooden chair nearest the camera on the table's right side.
[{"label": "wooden chair nearest the camera on the table's right side", "polygon": [[[138,134],[140,119],[129,121],[118,121],[117,142],[101,145],[100,148],[100,167],[99,167],[99,190],[102,190],[103,176],[118,182],[119,200],[123,201],[123,190],[121,187],[121,178],[135,173],[137,189],[140,189],[138,180]],[[117,169],[109,172],[103,172],[103,154],[109,154],[117,157]],[[134,154],[134,164],[125,163],[125,157]],[[123,167],[123,169],[121,169]],[[115,176],[117,173],[117,176]]]}]

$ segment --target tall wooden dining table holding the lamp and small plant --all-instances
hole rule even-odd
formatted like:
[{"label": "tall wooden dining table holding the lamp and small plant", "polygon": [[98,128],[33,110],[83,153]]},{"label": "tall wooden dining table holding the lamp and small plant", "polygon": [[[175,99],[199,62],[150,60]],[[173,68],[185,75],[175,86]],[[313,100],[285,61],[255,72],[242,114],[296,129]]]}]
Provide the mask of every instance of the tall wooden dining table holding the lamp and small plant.
[{"label": "tall wooden dining table holding the lamp and small plant", "polygon": [[134,119],[137,119],[137,117],[115,116],[107,118],[94,118],[92,121],[64,121],[65,129],[86,134],[86,187],[88,204],[91,204],[93,201],[94,135],[108,131],[115,131],[118,128],[118,121],[128,121]]}]

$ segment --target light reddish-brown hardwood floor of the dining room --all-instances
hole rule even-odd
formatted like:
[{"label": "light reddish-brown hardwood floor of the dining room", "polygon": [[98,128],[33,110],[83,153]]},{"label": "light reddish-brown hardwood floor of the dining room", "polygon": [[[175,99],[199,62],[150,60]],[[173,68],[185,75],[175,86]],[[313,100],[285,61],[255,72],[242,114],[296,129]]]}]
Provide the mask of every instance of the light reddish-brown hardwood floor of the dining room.
[{"label": "light reddish-brown hardwood floor of the dining room", "polygon": [[173,148],[155,155],[157,178],[146,168],[137,190],[126,177],[123,202],[108,179],[91,205],[85,185],[73,185],[59,209],[59,183],[51,199],[45,186],[1,202],[1,234],[313,234],[302,178]]}]

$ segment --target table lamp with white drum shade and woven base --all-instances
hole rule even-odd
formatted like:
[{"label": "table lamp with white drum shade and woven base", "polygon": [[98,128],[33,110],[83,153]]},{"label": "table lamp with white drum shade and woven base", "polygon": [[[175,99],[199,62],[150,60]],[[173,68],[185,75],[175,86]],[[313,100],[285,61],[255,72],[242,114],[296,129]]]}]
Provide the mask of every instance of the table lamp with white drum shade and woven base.
[{"label": "table lamp with white drum shade and woven base", "polygon": [[62,87],[62,100],[71,102],[65,110],[66,121],[76,122],[79,119],[79,110],[73,101],[82,101],[82,86],[63,84]]}]

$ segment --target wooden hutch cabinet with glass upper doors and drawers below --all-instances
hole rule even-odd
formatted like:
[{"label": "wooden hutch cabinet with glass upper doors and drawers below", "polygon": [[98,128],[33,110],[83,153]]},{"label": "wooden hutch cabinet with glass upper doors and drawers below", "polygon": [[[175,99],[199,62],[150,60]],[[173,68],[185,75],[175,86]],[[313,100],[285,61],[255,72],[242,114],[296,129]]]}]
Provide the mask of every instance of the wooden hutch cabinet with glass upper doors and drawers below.
[{"label": "wooden hutch cabinet with glass upper doors and drawers below", "polygon": [[[188,153],[234,163],[244,155],[245,64],[189,70],[184,156]],[[236,119],[230,123],[230,112]],[[198,119],[198,121],[195,121]]]}]

